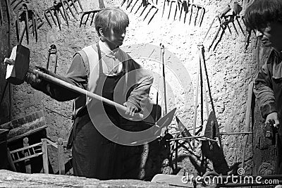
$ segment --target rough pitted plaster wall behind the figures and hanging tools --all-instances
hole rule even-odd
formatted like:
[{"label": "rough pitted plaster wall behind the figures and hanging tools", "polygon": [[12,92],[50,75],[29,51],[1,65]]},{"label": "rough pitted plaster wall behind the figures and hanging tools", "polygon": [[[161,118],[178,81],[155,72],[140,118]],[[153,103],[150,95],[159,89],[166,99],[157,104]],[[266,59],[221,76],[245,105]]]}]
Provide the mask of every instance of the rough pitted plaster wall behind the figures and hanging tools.
[{"label": "rough pitted plaster wall behind the figures and hanging tools", "polygon": [[[125,10],[125,6],[122,7],[123,10],[128,13],[130,18],[130,25],[123,44],[125,49],[126,46],[133,44],[152,44],[154,46],[159,46],[160,43],[164,44],[166,50],[175,54],[186,68],[189,75],[185,76],[188,77],[188,81],[190,78],[191,91],[194,93],[197,80],[197,63],[199,62],[197,44],[202,42],[202,39],[209,28],[209,24],[212,22],[216,13],[219,13],[219,11],[221,11],[227,4],[232,5],[233,1],[199,0],[195,1],[195,3],[202,4],[206,8],[201,27],[195,27],[192,24],[189,25],[188,21],[183,23],[183,20],[180,22],[178,20],[173,20],[173,16],[169,19],[166,17],[161,18],[161,11],[154,16],[152,22],[148,25],[147,22],[149,17],[143,21],[145,13],[139,17],[140,11],[137,14],[134,14],[130,13],[130,8]],[[32,4],[38,8],[39,13],[43,13],[47,6],[51,6],[52,1],[32,1]],[[105,1],[105,4],[106,6],[119,6],[121,1]],[[82,5],[85,8],[85,11],[98,7],[97,1],[82,0]],[[243,10],[245,6],[245,1],[243,1]],[[171,13],[171,15],[173,14],[174,12]],[[165,12],[165,15],[168,15],[167,11]],[[32,38],[30,45],[28,45],[31,51],[31,65],[45,66],[47,63],[48,48],[51,44],[56,44],[59,51],[57,73],[59,75],[65,75],[75,51],[78,51],[83,46],[97,42],[97,35],[94,32],[94,27],[86,26],[79,28],[79,20],[75,21],[72,18],[70,27],[67,27],[66,23],[63,22],[62,30],[59,30],[59,28],[55,26],[51,29],[47,22],[45,22],[42,28],[39,29],[38,42],[35,43],[35,40]],[[215,23],[216,24],[214,24],[207,36],[206,42],[204,42],[204,46],[206,49],[207,72],[212,90],[212,97],[214,99],[216,117],[218,118],[221,132],[240,132],[245,125],[247,86],[255,77],[258,68],[257,63],[255,63],[257,60],[255,39],[252,37],[252,43],[245,52],[245,37],[242,35],[238,27],[239,35],[235,35],[235,30],[231,25],[232,34],[226,30],[216,49],[214,51],[207,51],[207,48],[209,44],[211,44],[212,38],[215,35],[216,29],[218,28],[217,20]],[[241,24],[243,25],[242,22]],[[12,44],[16,44],[16,35],[13,35],[13,37]],[[27,46],[25,41],[23,44]],[[158,58],[159,52],[156,53],[155,56]],[[166,59],[166,62],[172,63],[173,65],[173,61]],[[153,66],[150,66],[148,62],[144,63],[144,65],[149,69],[153,69]],[[176,75],[176,77],[180,77],[180,75]],[[173,86],[174,82],[176,81],[173,81],[172,79],[170,85]],[[174,101],[172,100],[173,102],[168,102],[168,110],[177,107],[176,115],[178,115],[186,127],[192,127],[194,110],[192,106],[193,94],[191,91],[176,92],[176,94],[180,94],[180,96],[177,95],[178,99]],[[188,98],[183,99],[183,96],[187,95]],[[171,101],[171,99],[168,99],[168,101]],[[188,101],[188,104],[191,104],[191,106],[185,106],[185,101]],[[47,108],[51,109],[51,111]],[[41,92],[35,91],[35,89],[32,89],[32,87],[27,84],[15,87],[13,90],[13,118],[21,117],[28,113],[32,113],[32,111],[38,111],[39,109],[44,109],[47,117],[47,123],[49,124],[47,133],[49,137],[55,141],[58,137],[63,137],[63,139],[66,140],[68,138],[69,130],[71,129],[71,120],[65,116],[71,117],[71,101],[63,103],[54,101],[49,96],[45,96]],[[211,106],[209,106],[209,109],[211,111]],[[52,111],[57,111],[64,116],[58,115]],[[199,121],[200,106],[197,114],[197,119]],[[173,120],[172,125],[175,124],[175,120]],[[242,139],[243,136],[241,135],[221,137],[223,153],[226,156],[226,161],[229,166],[241,161],[243,148],[240,140]],[[249,144],[249,146],[251,147],[251,144]],[[186,151],[183,151],[183,154],[185,154],[185,152]],[[201,155],[200,152],[197,153]],[[252,158],[250,148],[247,149],[246,158]],[[182,167],[185,167],[187,170],[191,170],[192,167],[189,159],[186,157],[183,161],[184,162],[180,163],[180,165],[183,165]],[[247,168],[250,168],[251,165],[251,160],[247,161]]]}]

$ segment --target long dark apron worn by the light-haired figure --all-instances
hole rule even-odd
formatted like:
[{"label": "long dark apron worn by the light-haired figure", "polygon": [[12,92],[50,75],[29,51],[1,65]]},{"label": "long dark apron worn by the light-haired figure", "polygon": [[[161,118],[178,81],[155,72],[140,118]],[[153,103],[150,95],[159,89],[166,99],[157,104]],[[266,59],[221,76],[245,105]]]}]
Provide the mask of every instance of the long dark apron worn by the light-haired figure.
[{"label": "long dark apron worn by the light-haired figure", "polygon": [[[99,59],[101,59],[99,45],[97,45],[97,49]],[[111,101],[114,100],[114,88],[124,73],[125,71],[114,76],[104,75],[102,61],[99,61],[99,79],[97,85],[104,82],[102,96]],[[106,104],[103,104],[103,106],[97,104],[97,108],[102,107],[104,107],[104,111],[106,111],[106,115],[108,115],[111,122],[119,125],[121,117],[118,111],[116,111],[116,108]],[[90,120],[87,108],[83,111],[75,118],[73,126],[73,174],[97,178],[99,180],[116,179],[118,176],[118,169],[116,167],[117,144],[106,139],[98,132]],[[95,117],[99,119],[102,117],[100,115],[102,114],[97,112]]]}]

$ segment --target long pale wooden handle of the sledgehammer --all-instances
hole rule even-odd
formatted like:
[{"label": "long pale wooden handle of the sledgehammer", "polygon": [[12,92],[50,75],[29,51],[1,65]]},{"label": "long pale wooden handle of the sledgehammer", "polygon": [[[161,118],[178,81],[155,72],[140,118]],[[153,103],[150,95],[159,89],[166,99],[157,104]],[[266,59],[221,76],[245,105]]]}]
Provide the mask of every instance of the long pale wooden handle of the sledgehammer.
[{"label": "long pale wooden handle of the sledgehammer", "polygon": [[[48,75],[46,73],[42,73],[41,71],[39,70],[36,70],[34,68],[29,68],[28,71],[29,73],[33,73],[35,75],[39,75],[39,77],[42,77],[42,79],[46,80],[46,81],[49,81],[49,82],[52,82],[54,84],[57,84],[61,87],[65,87],[66,89],[70,89],[71,91],[73,92],[76,92],[78,94],[84,94],[84,95],[87,95],[88,97],[90,97],[91,99],[97,99],[99,101],[103,101],[105,102],[106,104],[109,104],[110,106],[114,106],[116,108],[118,108],[119,110],[125,112],[127,110],[127,108],[121,104],[118,104],[114,101],[111,101],[109,99],[106,99],[102,96],[99,96],[97,94],[94,94],[92,92],[89,92],[85,89],[82,89],[80,87],[77,87],[73,84],[70,84],[68,82],[65,82],[63,80],[60,80],[59,78],[56,78],[56,77],[53,77],[51,75]],[[144,115],[142,113],[135,113],[134,117],[136,120],[143,120],[144,118]]]}]

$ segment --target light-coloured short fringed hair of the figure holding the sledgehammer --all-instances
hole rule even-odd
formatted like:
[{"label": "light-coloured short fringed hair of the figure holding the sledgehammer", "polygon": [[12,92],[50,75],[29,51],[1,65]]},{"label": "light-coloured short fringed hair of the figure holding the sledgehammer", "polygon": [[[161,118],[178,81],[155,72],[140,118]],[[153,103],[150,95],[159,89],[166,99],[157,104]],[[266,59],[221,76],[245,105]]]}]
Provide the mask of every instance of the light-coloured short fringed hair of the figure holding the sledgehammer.
[{"label": "light-coloured short fringed hair of the figure holding the sledgehammer", "polygon": [[110,30],[122,32],[129,25],[128,15],[118,7],[103,8],[97,13],[94,20],[95,29],[99,34],[99,29],[109,33]]}]

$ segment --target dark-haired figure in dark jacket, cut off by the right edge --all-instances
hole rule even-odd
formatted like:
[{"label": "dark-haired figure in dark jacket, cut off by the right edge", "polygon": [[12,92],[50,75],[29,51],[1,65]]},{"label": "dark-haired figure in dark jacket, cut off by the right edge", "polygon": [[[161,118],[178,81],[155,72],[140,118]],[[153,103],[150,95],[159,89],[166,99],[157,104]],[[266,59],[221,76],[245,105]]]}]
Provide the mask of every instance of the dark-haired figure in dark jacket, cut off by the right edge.
[{"label": "dark-haired figure in dark jacket, cut off by the right edge", "polygon": [[282,174],[282,1],[255,0],[245,19],[262,44],[273,48],[255,80],[255,94],[266,123],[278,129],[277,173]]}]

